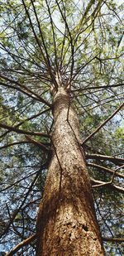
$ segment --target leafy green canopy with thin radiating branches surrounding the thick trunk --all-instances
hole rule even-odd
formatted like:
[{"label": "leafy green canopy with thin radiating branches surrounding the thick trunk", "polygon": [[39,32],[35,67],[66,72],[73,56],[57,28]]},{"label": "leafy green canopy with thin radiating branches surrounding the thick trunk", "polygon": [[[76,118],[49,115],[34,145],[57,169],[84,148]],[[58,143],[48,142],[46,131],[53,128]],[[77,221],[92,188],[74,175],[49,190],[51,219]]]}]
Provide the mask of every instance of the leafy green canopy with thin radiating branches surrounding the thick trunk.
[{"label": "leafy green canopy with thin radiating branches surrounding the thick trunk", "polygon": [[1,251],[36,254],[60,80],[79,117],[105,249],[122,255],[122,2],[4,0],[0,11]]}]

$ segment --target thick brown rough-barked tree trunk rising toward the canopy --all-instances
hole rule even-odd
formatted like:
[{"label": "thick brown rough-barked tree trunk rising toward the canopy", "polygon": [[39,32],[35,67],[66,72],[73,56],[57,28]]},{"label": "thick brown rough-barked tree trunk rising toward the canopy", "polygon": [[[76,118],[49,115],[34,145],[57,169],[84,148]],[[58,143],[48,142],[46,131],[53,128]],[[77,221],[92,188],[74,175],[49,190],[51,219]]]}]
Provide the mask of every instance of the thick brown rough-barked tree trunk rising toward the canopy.
[{"label": "thick brown rough-barked tree trunk rising toward the canopy", "polygon": [[53,156],[37,219],[36,255],[103,256],[79,121],[62,87],[55,94],[53,114]]}]

